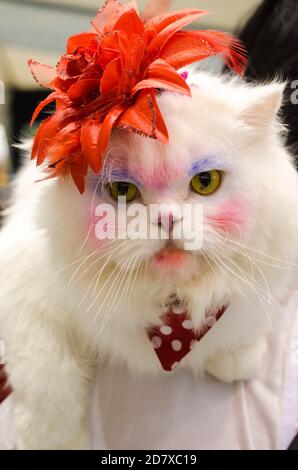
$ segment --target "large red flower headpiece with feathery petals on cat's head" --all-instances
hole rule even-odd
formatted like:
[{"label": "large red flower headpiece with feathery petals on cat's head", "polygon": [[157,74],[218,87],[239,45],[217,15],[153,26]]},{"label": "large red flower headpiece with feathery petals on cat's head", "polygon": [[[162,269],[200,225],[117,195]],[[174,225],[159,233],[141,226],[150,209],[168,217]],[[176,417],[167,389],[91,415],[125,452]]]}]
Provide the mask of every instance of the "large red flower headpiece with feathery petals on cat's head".
[{"label": "large red flower headpiece with feathery petals on cat's head", "polygon": [[88,166],[102,168],[113,128],[168,142],[156,103],[159,90],[190,95],[177,69],[222,53],[241,73],[245,52],[233,36],[181,31],[207,12],[181,10],[144,20],[135,3],[107,0],[90,32],[71,36],[56,67],[29,60],[35,80],[52,93],[35,109],[55,102],[55,112],[36,133],[32,158],[46,161],[49,177],[71,174],[82,193]]}]

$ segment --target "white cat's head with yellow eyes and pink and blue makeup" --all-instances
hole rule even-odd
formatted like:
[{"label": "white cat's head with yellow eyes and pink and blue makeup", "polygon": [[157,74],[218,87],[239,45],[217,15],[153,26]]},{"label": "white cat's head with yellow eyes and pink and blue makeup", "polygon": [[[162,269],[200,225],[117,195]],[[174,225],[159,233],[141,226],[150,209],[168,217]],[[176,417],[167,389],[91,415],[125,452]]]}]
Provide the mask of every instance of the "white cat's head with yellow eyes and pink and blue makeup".
[{"label": "white cat's head with yellow eyes and pink and blue makeup", "polygon": [[[280,236],[273,219],[278,205],[286,207],[287,186],[296,177],[277,135],[281,94],[279,85],[250,89],[203,76],[192,98],[159,97],[168,145],[116,131],[102,178],[88,180],[90,249],[127,271],[145,263],[148,272],[180,281],[228,264],[239,255],[237,245],[264,250],[272,233]],[[126,199],[129,229],[120,220],[118,196]],[[102,204],[113,207],[115,217],[98,209]],[[133,222],[136,204],[147,212]],[[103,226],[109,236],[99,240],[96,230]]]}]

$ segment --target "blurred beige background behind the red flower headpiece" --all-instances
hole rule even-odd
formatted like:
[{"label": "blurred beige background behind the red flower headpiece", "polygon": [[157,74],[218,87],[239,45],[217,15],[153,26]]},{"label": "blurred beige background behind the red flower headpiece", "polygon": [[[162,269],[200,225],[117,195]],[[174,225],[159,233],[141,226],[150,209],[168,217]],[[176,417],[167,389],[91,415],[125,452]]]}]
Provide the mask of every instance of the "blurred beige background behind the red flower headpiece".
[{"label": "blurred beige background behind the red flower headpiece", "polygon": [[[173,0],[171,9],[201,8],[212,14],[192,28],[237,31],[261,0]],[[147,1],[138,0],[143,10]],[[12,147],[34,132],[29,121],[47,95],[33,80],[27,59],[55,65],[68,36],[86,31],[103,0],[0,0],[0,201],[10,175],[20,165]],[[218,67],[214,61],[208,67]],[[1,197],[2,194],[2,197]]]}]

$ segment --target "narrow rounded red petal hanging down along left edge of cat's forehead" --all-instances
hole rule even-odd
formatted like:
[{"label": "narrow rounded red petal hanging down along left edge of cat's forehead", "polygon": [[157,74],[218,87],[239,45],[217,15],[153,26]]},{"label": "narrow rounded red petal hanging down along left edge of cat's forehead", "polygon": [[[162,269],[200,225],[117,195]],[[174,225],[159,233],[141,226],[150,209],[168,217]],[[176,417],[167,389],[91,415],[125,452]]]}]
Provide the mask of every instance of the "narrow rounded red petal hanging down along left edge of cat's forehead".
[{"label": "narrow rounded red petal hanging down along left edge of cat's forehead", "polygon": [[88,119],[81,128],[81,146],[86,161],[94,173],[98,173],[102,166],[102,158],[98,152],[98,140],[102,123],[98,120]]}]

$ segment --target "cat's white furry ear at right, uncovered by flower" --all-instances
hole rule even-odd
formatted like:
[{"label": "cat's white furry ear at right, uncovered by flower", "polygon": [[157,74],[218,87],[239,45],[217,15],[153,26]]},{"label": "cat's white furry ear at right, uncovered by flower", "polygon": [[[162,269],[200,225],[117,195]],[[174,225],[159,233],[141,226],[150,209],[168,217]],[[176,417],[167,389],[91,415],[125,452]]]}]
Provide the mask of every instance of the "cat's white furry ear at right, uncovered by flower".
[{"label": "cat's white furry ear at right, uncovered by flower", "polygon": [[269,127],[280,110],[284,89],[285,84],[272,83],[251,90],[250,102],[240,113],[241,120],[251,127]]}]

